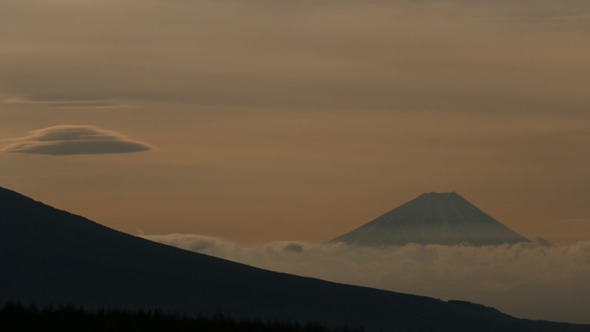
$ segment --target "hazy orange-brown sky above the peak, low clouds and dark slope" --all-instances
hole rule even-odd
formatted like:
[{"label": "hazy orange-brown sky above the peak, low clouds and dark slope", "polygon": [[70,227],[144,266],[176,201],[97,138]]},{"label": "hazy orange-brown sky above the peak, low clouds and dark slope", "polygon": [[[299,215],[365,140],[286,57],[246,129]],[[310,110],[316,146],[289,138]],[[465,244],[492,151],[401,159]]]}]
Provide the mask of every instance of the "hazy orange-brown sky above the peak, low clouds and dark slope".
[{"label": "hazy orange-brown sky above the peak, low clouds and dark slope", "polygon": [[589,59],[587,0],[2,0],[0,186],[242,243],[455,191],[571,244]]}]

